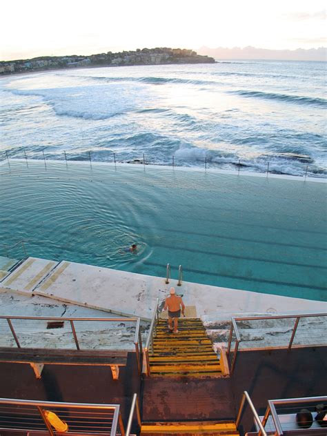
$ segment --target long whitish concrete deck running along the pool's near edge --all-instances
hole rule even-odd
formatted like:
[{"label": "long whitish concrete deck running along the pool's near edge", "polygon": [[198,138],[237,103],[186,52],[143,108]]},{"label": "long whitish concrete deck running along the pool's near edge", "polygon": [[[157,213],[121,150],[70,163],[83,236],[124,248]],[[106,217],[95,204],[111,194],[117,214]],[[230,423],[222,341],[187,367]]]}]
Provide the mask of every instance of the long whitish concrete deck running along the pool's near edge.
[{"label": "long whitish concrete deck running along the pool's near edge", "polygon": [[[0,290],[42,295],[70,304],[150,321],[156,300],[164,304],[170,286],[152,277],[61,261],[29,257],[0,282]],[[327,302],[253,293],[184,281],[177,287],[187,306],[196,306],[204,321],[229,320],[246,314],[327,312]]]}]

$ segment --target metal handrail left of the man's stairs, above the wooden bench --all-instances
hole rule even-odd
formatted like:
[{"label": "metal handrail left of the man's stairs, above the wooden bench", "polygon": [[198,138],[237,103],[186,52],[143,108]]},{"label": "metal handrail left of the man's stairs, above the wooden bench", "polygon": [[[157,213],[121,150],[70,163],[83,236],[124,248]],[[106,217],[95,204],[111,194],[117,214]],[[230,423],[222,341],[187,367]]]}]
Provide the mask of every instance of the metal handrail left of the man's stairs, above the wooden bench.
[{"label": "metal handrail left of the man's stairs, above the wooden bench", "polygon": [[80,346],[79,346],[79,340],[77,337],[77,333],[75,330],[75,324],[74,321],[101,321],[101,322],[105,322],[105,321],[119,321],[119,322],[136,322],[135,325],[135,337],[134,337],[134,344],[135,344],[135,353],[136,353],[136,357],[137,357],[137,368],[139,370],[139,374],[141,375],[142,372],[142,368],[141,368],[141,355],[142,355],[142,339],[141,339],[141,330],[140,330],[140,323],[141,320],[139,317],[135,317],[135,318],[97,318],[97,317],[92,317],[92,318],[77,318],[77,317],[23,317],[23,316],[17,316],[17,315],[0,315],[0,319],[6,319],[6,321],[8,322],[8,326],[10,328],[10,331],[12,333],[12,336],[14,337],[14,341],[16,342],[17,348],[27,348],[27,347],[22,347],[21,344],[19,343],[19,339],[17,336],[17,333],[14,330],[14,326],[12,326],[12,319],[22,319],[22,320],[36,320],[36,321],[69,321],[70,323],[70,328],[72,329],[72,336],[74,338],[75,341],[75,346],[77,348],[77,350],[80,350]]}]

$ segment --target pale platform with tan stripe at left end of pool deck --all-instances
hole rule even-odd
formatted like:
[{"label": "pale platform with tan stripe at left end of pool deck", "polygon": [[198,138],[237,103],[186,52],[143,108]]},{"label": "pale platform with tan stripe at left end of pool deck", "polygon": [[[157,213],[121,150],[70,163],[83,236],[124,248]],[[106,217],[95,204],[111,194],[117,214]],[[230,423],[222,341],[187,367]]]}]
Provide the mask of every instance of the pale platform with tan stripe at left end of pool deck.
[{"label": "pale platform with tan stripe at left end of pool deck", "polygon": [[34,288],[58,265],[57,261],[28,257],[0,283],[0,290],[32,295]]}]

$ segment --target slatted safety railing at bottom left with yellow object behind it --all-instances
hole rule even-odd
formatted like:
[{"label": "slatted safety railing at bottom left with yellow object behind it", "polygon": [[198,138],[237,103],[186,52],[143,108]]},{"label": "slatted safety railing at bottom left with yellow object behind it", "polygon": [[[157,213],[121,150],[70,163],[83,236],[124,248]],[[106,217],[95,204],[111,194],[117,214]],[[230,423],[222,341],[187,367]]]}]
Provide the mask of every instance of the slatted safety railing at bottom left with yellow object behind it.
[{"label": "slatted safety railing at bottom left with yellow object behind it", "polygon": [[[135,394],[136,395],[136,394]],[[0,398],[0,429],[126,436],[119,404],[41,402]],[[129,434],[129,433],[128,433]]]}]

